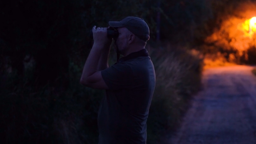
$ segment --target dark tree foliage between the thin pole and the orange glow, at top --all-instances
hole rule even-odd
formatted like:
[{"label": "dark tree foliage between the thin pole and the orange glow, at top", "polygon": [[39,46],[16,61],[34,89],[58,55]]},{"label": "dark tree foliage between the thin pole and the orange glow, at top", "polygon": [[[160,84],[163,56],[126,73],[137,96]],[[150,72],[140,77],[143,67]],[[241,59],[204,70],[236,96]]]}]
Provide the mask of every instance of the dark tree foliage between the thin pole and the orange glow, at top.
[{"label": "dark tree foliage between the thin pole and the orange glow, at top", "polygon": [[196,28],[212,18],[207,0],[163,0],[161,37],[172,44],[187,44],[195,40]]}]

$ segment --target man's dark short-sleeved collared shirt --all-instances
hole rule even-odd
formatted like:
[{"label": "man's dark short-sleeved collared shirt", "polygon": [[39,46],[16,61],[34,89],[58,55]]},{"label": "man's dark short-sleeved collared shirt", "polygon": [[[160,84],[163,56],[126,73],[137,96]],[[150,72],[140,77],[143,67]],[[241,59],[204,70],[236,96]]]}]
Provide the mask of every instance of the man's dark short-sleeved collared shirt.
[{"label": "man's dark short-sleeved collared shirt", "polygon": [[98,113],[99,144],[146,144],[155,69],[143,49],[101,71],[108,85]]}]

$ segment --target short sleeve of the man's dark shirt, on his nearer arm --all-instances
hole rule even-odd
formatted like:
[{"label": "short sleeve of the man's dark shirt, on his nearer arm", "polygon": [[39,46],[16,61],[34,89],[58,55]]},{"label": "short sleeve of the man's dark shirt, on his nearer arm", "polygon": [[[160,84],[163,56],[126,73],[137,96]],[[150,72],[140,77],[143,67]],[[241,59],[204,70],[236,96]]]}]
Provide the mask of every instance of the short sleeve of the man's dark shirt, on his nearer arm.
[{"label": "short sleeve of the man's dark shirt, on his nearer arm", "polygon": [[132,68],[126,63],[117,63],[102,70],[101,76],[110,90],[129,89],[132,87]]}]

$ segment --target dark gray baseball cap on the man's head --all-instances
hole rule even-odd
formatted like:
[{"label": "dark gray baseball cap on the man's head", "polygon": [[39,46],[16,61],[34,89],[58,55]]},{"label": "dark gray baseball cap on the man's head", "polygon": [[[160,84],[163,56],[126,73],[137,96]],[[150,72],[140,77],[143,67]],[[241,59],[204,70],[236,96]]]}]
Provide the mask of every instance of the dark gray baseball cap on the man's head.
[{"label": "dark gray baseball cap on the man's head", "polygon": [[109,26],[118,28],[125,27],[130,30],[135,36],[145,42],[149,40],[149,28],[148,24],[138,17],[126,17],[121,21],[109,21]]}]

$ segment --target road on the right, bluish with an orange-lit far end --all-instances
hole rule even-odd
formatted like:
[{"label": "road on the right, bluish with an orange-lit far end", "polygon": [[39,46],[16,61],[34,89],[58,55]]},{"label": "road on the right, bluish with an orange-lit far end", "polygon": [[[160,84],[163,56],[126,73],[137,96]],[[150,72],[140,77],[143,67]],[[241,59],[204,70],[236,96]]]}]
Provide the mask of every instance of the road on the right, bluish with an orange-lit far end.
[{"label": "road on the right, bluish with an orange-lit far end", "polygon": [[253,67],[204,71],[204,88],[169,144],[256,144],[256,76]]}]

